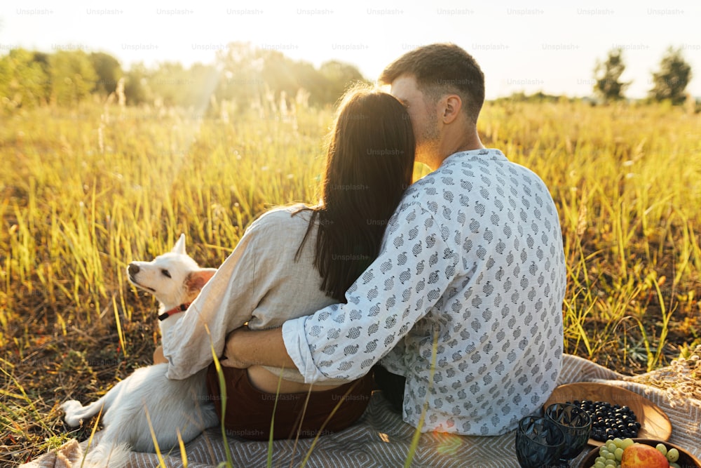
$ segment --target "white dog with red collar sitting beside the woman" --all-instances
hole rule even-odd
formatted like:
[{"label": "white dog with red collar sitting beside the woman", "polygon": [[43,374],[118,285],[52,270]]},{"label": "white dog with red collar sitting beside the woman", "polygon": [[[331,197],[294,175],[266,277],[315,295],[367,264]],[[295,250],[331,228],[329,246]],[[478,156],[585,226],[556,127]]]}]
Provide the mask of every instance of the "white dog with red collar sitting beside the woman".
[{"label": "white dog with red collar sitting beside the woman", "polygon": [[[162,335],[182,317],[178,312],[187,309],[216,271],[198,267],[186,255],[185,234],[169,253],[152,262],[132,262],[127,267],[130,283],[161,302],[158,319]],[[161,450],[177,446],[177,432],[187,443],[203,429],[217,425],[215,408],[207,398],[207,369],[185,380],[168,380],[166,370],[168,364],[140,368],[88,406],[76,400],[62,404],[65,421],[72,427],[102,409],[105,429],[97,447],[86,457],[88,466],[105,466],[109,460],[110,467],[118,467],[127,461],[129,450],[154,452],[149,424]]]}]

